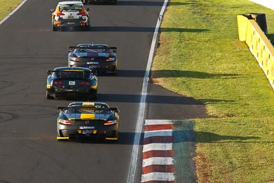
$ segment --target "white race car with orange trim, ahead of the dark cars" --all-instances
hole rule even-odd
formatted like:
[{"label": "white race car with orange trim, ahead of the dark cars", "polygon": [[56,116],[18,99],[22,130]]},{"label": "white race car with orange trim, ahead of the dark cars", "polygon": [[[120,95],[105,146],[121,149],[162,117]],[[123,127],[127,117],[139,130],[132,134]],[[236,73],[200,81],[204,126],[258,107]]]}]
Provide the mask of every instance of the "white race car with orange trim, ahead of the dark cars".
[{"label": "white race car with orange trim, ahead of the dark cars", "polygon": [[83,30],[90,28],[89,8],[85,10],[82,1],[62,1],[58,3],[52,13],[53,31],[66,27],[75,27]]}]

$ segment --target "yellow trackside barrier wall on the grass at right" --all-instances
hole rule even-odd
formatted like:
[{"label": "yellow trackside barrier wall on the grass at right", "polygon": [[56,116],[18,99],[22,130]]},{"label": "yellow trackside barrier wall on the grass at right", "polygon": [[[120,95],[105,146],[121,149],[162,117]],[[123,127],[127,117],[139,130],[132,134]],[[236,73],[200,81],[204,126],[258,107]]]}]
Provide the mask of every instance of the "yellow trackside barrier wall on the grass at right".
[{"label": "yellow trackside barrier wall on the grass at right", "polygon": [[[237,15],[239,40],[245,41],[249,50],[274,88],[274,47],[258,23],[247,15]],[[267,27],[266,29],[267,32]]]}]

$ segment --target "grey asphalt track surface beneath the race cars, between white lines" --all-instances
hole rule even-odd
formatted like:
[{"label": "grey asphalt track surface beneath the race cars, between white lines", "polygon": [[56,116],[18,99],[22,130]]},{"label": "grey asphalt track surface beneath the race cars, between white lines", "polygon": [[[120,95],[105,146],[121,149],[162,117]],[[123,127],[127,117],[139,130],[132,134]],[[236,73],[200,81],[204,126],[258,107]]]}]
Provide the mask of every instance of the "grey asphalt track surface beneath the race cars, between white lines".
[{"label": "grey asphalt track surface beneath the race cars, between white lines", "polygon": [[[126,182],[142,76],[163,1],[90,5],[90,32],[52,32],[55,0],[28,0],[0,25],[0,182]],[[172,31],[172,29],[166,29]],[[46,72],[66,66],[79,43],[118,48],[119,75],[99,77],[99,99],[121,110],[118,143],[56,141],[56,106]]]}]

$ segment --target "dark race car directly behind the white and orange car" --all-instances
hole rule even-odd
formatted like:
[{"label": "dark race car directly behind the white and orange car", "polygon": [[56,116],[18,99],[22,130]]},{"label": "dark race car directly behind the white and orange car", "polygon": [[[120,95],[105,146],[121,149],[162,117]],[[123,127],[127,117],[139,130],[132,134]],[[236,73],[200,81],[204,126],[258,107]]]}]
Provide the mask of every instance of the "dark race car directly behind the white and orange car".
[{"label": "dark race car directly behind the white and orange car", "polygon": [[117,73],[116,47],[103,44],[81,44],[69,47],[69,66],[88,67],[95,73]]}]

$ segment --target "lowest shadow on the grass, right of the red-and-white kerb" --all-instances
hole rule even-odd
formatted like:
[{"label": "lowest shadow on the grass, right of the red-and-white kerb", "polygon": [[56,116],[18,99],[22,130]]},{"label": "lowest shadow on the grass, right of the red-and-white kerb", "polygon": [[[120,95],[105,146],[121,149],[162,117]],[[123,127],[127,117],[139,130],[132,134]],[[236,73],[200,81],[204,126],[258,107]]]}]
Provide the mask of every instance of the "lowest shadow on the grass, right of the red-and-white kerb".
[{"label": "lowest shadow on the grass, right of the red-and-white kerb", "polygon": [[216,143],[219,141],[247,141],[251,139],[259,139],[258,136],[223,136],[210,132],[195,132],[197,143]]}]

